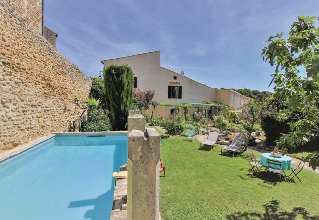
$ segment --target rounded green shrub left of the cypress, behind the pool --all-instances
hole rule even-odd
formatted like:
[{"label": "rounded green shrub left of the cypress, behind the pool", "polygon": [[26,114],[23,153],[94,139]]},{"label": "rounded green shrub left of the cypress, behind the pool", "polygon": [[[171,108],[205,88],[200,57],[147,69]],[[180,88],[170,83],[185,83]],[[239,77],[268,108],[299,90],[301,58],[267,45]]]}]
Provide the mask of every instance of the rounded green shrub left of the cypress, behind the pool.
[{"label": "rounded green shrub left of the cypress, behind the pool", "polygon": [[103,109],[89,109],[87,121],[82,122],[80,132],[104,132],[110,130],[108,111]]}]

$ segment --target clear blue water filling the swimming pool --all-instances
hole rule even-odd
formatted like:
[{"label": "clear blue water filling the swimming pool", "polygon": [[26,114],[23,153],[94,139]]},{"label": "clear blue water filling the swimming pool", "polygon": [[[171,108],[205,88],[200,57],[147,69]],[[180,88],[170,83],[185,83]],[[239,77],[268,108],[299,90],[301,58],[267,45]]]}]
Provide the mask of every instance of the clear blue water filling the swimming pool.
[{"label": "clear blue water filling the swimming pool", "polygon": [[109,220],[127,135],[55,136],[0,163],[0,220]]}]

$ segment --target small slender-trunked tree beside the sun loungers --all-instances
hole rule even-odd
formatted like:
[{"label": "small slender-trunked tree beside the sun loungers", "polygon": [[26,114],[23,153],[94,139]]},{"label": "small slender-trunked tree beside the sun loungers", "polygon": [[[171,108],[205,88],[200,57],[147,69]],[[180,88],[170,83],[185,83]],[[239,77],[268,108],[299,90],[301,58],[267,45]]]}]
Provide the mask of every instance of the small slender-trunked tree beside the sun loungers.
[{"label": "small slender-trunked tree beside the sun loungers", "polygon": [[269,108],[269,105],[267,103],[268,101],[260,102],[258,100],[253,99],[250,102],[243,104],[243,106],[241,107],[241,114],[243,118],[246,119],[244,128],[248,131],[248,135],[246,137],[245,150],[247,150],[248,148],[249,138],[251,136],[256,121],[262,117],[266,117],[267,115],[271,115],[275,112],[274,109]]}]

